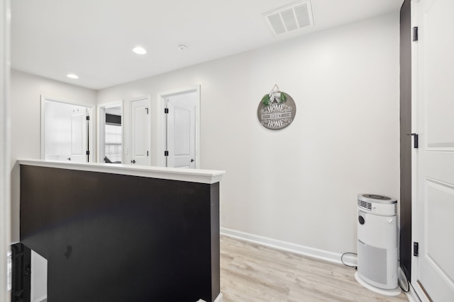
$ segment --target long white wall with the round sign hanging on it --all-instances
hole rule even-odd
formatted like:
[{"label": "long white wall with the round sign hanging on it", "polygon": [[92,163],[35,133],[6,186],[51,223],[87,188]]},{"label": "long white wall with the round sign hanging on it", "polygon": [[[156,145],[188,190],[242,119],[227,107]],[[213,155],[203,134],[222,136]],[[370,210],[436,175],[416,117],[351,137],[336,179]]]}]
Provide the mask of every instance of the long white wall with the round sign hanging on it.
[{"label": "long white wall with the round sign hanging on it", "polygon": [[[151,95],[156,108],[157,93],[199,84],[201,168],[227,170],[221,227],[352,252],[356,195],[399,197],[399,12],[107,88],[97,101]],[[257,118],[275,84],[297,104],[282,131]]]}]

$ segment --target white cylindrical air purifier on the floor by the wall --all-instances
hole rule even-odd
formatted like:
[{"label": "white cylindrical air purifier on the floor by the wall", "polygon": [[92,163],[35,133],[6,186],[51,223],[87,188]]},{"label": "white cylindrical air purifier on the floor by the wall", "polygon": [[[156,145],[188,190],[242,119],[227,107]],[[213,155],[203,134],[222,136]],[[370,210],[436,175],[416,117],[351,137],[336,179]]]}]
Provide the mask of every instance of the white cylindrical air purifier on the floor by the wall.
[{"label": "white cylindrical air purifier on the floor by the wall", "polygon": [[397,199],[358,194],[357,281],[367,289],[397,296]]}]

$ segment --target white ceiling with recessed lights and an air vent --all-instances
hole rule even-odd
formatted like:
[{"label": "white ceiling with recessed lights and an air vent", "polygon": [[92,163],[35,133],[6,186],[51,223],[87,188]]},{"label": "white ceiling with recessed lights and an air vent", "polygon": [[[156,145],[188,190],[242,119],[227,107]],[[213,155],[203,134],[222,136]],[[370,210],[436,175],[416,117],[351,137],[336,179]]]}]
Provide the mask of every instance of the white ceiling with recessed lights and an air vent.
[{"label": "white ceiling with recessed lights and an air vent", "polygon": [[295,2],[13,0],[11,66],[99,90],[397,12],[403,0],[311,0],[314,26],[274,37],[262,14]]}]

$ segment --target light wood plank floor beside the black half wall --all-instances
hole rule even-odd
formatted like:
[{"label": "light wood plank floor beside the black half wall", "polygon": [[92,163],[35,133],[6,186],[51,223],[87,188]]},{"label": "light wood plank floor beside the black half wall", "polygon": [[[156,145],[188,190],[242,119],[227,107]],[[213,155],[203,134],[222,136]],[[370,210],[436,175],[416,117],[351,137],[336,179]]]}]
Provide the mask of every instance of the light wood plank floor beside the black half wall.
[{"label": "light wood plank floor beside the black half wall", "polygon": [[355,269],[221,236],[223,302],[409,301],[358,284]]}]

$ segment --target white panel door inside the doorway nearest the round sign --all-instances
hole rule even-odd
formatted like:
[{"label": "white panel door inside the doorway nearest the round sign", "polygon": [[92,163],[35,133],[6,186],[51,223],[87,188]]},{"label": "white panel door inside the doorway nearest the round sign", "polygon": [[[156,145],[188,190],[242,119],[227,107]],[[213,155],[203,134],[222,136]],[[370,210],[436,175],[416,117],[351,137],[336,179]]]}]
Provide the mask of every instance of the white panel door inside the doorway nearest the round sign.
[{"label": "white panel door inside the doorway nearest the round sign", "polygon": [[196,108],[194,105],[167,101],[167,167],[195,168]]}]

